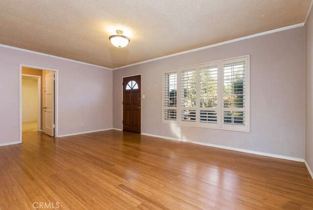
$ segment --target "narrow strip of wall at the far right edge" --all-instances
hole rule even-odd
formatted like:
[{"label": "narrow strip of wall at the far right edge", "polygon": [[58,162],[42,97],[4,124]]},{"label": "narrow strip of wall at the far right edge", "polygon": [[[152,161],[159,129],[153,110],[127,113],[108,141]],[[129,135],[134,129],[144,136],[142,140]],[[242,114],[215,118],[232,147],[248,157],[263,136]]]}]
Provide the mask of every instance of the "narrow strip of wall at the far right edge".
[{"label": "narrow strip of wall at the far right edge", "polygon": [[306,161],[313,170],[313,11],[309,15],[306,30],[306,70],[307,70],[307,104],[306,104]]}]

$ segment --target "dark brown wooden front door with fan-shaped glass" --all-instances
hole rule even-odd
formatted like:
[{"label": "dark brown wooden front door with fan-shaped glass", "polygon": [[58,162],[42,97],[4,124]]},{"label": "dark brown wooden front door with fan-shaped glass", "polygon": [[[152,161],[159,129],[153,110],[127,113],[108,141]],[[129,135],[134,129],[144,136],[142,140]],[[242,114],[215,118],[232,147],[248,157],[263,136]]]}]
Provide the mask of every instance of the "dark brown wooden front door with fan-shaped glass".
[{"label": "dark brown wooden front door with fan-shaped glass", "polygon": [[141,132],[141,76],[123,78],[123,131]]}]

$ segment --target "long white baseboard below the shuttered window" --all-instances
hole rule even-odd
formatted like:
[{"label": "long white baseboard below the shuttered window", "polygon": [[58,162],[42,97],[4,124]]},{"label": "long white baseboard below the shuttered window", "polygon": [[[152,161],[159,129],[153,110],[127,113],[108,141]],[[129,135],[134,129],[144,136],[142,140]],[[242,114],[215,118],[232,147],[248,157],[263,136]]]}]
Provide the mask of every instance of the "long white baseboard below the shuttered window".
[{"label": "long white baseboard below the shuttered window", "polygon": [[270,154],[270,153],[265,153],[265,152],[252,151],[252,150],[247,150],[247,149],[240,149],[240,148],[235,148],[235,147],[230,147],[230,146],[204,143],[204,142],[199,142],[199,141],[181,140],[181,139],[177,139],[177,138],[158,136],[158,135],[154,135],[154,134],[146,134],[146,133],[141,133],[141,134],[146,135],[146,136],[151,136],[151,137],[162,138],[162,139],[166,139],[166,140],[184,141],[184,142],[189,142],[189,143],[194,143],[194,144],[200,144],[203,146],[210,146],[210,147],[216,147],[216,148],[221,148],[221,149],[234,150],[234,151],[238,151],[238,152],[245,152],[245,153],[250,153],[250,154],[255,154],[255,155],[267,156],[267,157],[271,157],[271,158],[280,158],[280,159],[285,159],[285,160],[290,160],[290,161],[304,162],[304,159],[302,159],[302,158],[294,158],[294,157],[283,156],[283,155],[275,155],[275,154]]}]

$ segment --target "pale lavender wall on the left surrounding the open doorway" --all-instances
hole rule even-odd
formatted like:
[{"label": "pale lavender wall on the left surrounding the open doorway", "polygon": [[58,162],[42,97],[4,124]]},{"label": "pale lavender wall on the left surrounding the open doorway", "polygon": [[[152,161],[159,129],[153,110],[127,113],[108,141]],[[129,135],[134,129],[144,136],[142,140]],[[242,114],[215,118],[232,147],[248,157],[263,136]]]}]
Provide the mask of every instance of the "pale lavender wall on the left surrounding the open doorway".
[{"label": "pale lavender wall on the left surrounding the open doorway", "polygon": [[59,135],[112,128],[112,70],[0,47],[0,145],[19,141],[20,64],[58,70]]}]

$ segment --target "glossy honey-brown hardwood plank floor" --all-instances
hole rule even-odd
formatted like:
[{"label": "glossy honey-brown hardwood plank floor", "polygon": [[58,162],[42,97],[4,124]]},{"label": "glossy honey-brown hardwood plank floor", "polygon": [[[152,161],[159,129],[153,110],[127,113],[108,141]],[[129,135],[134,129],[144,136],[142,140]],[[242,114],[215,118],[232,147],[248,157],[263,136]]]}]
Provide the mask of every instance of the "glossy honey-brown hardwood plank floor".
[{"label": "glossy honey-brown hardwood plank floor", "polygon": [[120,131],[0,147],[0,210],[312,210],[304,163]]}]

